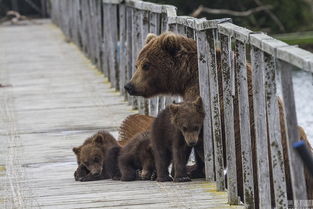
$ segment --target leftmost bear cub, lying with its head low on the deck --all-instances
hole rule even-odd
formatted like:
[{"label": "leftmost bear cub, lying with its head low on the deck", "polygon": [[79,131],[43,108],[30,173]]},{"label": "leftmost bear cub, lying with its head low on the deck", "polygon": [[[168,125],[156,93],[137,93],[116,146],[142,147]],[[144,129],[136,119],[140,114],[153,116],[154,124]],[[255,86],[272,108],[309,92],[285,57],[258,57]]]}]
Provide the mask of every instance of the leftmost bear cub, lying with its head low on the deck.
[{"label": "leftmost bear cub, lying with its head low on the deck", "polygon": [[86,139],[83,145],[74,147],[73,152],[76,155],[78,164],[78,168],[74,173],[75,180],[94,181],[110,178],[105,162],[107,151],[115,146],[119,145],[110,133],[99,131]]}]

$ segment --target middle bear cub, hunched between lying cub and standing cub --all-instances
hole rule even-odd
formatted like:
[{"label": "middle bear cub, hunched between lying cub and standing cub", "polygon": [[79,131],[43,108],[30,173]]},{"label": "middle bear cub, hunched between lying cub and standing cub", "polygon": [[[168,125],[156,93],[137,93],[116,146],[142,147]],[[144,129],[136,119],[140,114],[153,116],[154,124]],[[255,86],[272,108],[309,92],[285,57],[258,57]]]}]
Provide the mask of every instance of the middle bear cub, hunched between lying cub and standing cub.
[{"label": "middle bear cub, hunched between lying cub and standing cub", "polygon": [[138,133],[121,148],[118,167],[122,181],[153,180],[155,165],[150,131]]}]

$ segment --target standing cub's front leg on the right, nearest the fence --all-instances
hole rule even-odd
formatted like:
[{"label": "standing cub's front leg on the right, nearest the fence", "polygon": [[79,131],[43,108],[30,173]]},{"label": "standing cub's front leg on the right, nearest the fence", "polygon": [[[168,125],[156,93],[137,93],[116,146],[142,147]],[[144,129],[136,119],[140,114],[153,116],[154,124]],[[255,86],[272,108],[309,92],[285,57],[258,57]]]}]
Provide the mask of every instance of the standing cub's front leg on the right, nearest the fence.
[{"label": "standing cub's front leg on the right, nearest the fence", "polygon": [[184,145],[173,146],[173,167],[175,170],[175,182],[191,181],[187,175],[186,169],[186,149],[187,147]]}]

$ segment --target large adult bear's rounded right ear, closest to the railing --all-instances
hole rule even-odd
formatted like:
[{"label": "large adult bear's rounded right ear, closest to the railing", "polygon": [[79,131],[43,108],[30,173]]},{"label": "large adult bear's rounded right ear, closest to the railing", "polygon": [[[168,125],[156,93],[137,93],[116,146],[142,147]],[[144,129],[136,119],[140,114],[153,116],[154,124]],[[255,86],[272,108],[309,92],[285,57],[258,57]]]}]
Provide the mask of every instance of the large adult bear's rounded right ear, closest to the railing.
[{"label": "large adult bear's rounded right ear, closest to the railing", "polygon": [[175,56],[180,50],[178,37],[175,33],[165,33],[161,39],[161,48],[167,51],[170,55]]}]

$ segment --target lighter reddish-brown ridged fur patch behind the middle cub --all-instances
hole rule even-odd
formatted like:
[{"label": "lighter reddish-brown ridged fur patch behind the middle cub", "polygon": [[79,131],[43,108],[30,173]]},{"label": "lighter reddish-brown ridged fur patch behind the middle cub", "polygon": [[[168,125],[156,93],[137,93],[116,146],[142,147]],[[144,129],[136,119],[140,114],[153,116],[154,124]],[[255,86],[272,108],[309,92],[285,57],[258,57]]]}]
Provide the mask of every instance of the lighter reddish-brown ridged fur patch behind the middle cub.
[{"label": "lighter reddish-brown ridged fur patch behind the middle cub", "polygon": [[154,119],[148,115],[129,115],[119,127],[119,144],[124,146],[136,134],[149,130]]}]

